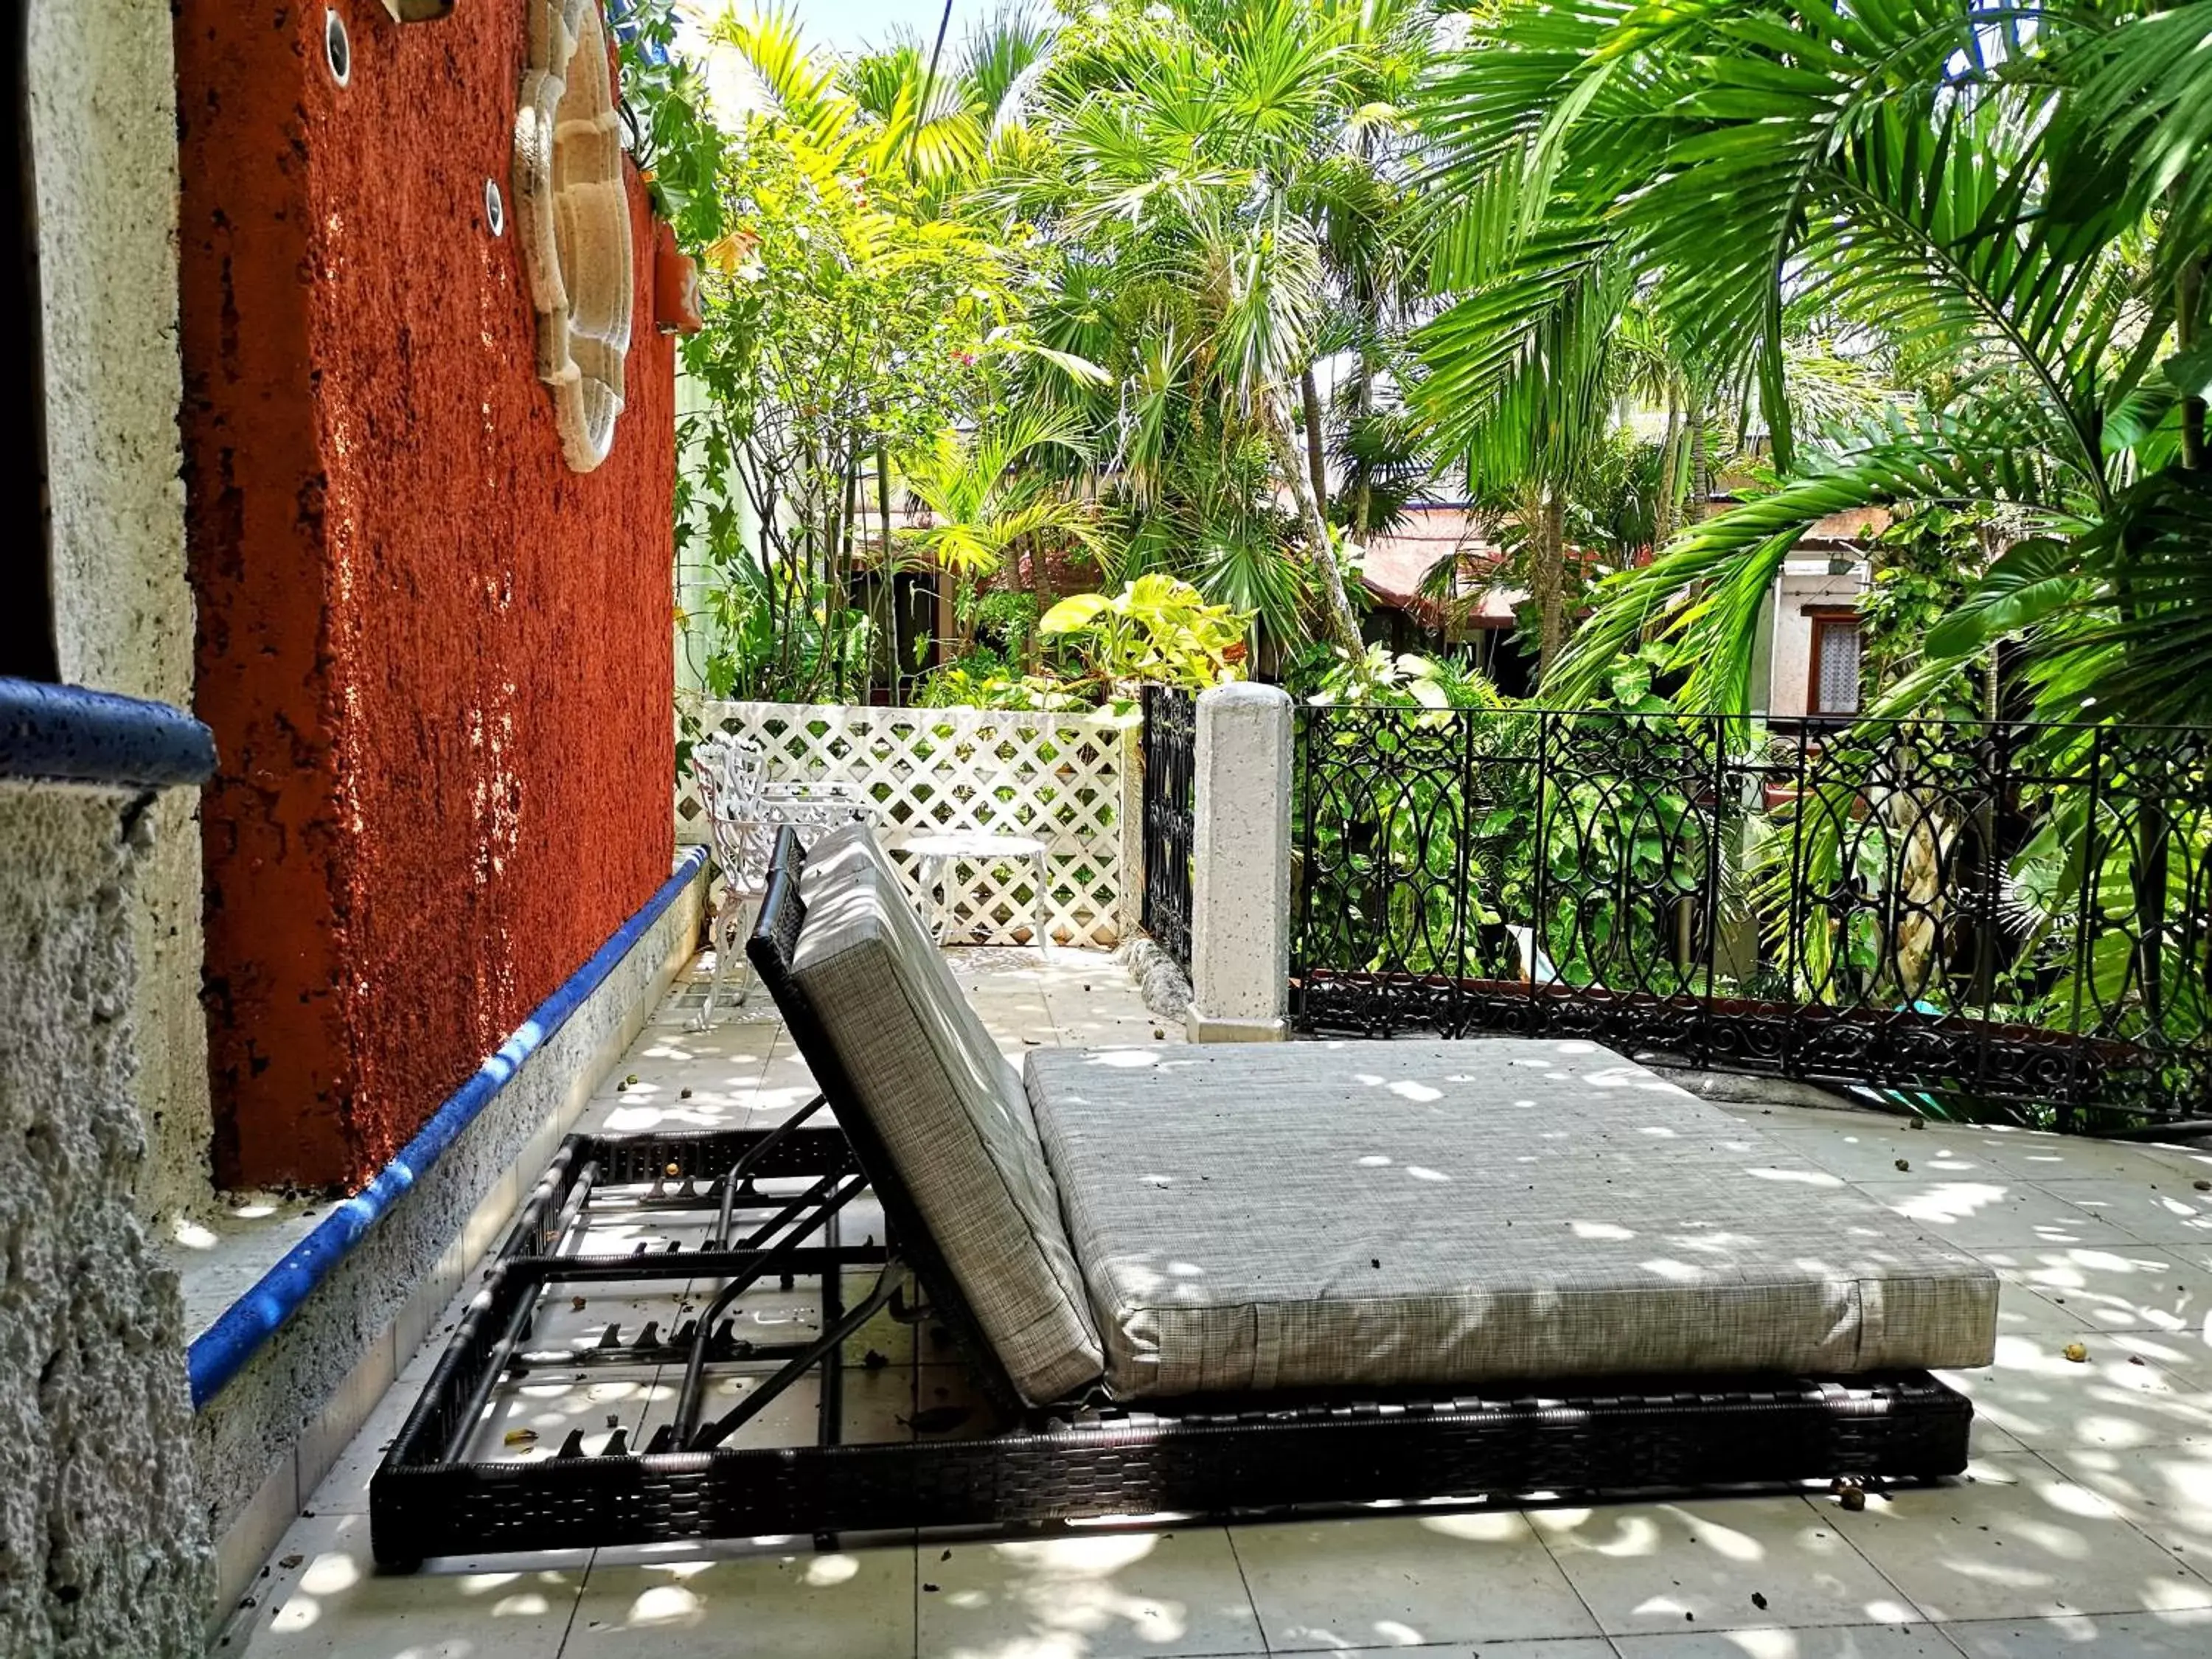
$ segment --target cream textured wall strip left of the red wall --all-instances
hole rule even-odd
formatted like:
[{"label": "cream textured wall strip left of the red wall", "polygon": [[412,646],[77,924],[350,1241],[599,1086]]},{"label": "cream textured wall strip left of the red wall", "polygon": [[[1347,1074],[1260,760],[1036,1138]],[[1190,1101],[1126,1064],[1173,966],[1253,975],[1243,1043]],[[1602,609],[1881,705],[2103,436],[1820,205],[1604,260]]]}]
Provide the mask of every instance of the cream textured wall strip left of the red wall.
[{"label": "cream textured wall strip left of the red wall", "polygon": [[[40,4],[29,27],[60,670],[73,686],[190,708],[168,0]],[[166,1225],[215,1199],[197,790],[159,796],[144,832],[128,916],[135,1093],[150,1130],[137,1194]]]}]

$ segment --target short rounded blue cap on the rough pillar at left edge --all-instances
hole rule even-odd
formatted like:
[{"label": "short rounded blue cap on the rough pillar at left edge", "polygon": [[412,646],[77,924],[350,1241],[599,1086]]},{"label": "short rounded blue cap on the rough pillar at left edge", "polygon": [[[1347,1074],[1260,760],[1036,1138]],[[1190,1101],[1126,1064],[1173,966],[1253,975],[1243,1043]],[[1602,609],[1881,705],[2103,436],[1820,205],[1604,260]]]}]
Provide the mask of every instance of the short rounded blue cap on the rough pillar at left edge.
[{"label": "short rounded blue cap on the rough pillar at left edge", "polygon": [[0,779],[168,790],[212,772],[215,734],[181,708],[0,679]]}]

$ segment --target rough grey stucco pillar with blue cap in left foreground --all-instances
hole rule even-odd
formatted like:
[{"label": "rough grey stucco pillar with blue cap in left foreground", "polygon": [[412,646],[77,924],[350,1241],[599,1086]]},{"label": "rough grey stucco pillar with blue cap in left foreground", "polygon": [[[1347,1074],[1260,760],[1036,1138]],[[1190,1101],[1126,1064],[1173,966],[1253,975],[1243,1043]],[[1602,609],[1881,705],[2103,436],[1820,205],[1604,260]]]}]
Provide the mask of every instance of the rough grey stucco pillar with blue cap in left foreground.
[{"label": "rough grey stucco pillar with blue cap in left foreground", "polygon": [[184,1301],[137,1214],[131,914],[153,792],[210,763],[175,710],[0,679],[0,1655],[204,1652]]}]

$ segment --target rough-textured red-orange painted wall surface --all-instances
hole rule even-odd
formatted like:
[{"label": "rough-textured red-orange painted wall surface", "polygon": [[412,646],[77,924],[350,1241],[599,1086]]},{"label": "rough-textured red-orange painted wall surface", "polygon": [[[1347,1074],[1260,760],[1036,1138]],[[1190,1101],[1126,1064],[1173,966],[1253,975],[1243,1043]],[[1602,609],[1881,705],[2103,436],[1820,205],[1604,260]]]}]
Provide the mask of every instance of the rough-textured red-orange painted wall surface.
[{"label": "rough-textured red-orange painted wall surface", "polygon": [[[675,380],[560,456],[509,164],[524,4],[179,0],[217,1175],[349,1186],[668,876]],[[487,223],[484,181],[507,206]]]}]

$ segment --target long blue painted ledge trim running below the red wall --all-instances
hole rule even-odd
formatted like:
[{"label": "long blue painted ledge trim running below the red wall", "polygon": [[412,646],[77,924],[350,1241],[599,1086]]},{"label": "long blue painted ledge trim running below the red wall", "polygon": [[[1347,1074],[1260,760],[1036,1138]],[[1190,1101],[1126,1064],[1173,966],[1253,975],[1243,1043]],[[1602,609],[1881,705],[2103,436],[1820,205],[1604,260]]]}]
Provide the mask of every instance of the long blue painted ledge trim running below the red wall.
[{"label": "long blue painted ledge trim running below the red wall", "polygon": [[186,1367],[192,1376],[192,1405],[204,1407],[223,1385],[230,1383],[246,1360],[276,1334],[299,1305],[314,1294],[314,1287],[330,1276],[345,1256],[361,1243],[378,1217],[389,1210],[418,1179],[429,1175],[445,1150],[460,1133],[476,1121],[478,1113],[507,1088],[509,1079],[522,1071],[538,1048],[542,1048],[568,1015],[584,1006],[584,1000],[599,989],[615,964],[630,953],[630,947],[646,936],[646,929],[677,902],[677,894],[699,874],[706,863],[706,847],[690,847],[677,860],[677,872],[646,900],[613,938],[602,945],[584,967],[544,1002],[515,1033],[491,1055],[478,1073],[456,1088],[445,1106],[416,1133],[398,1157],[385,1164],[361,1192],[332,1208],[327,1217],[292,1245],[292,1252],[270,1267],[261,1283],[239,1296],[217,1316],[192,1343]]}]

